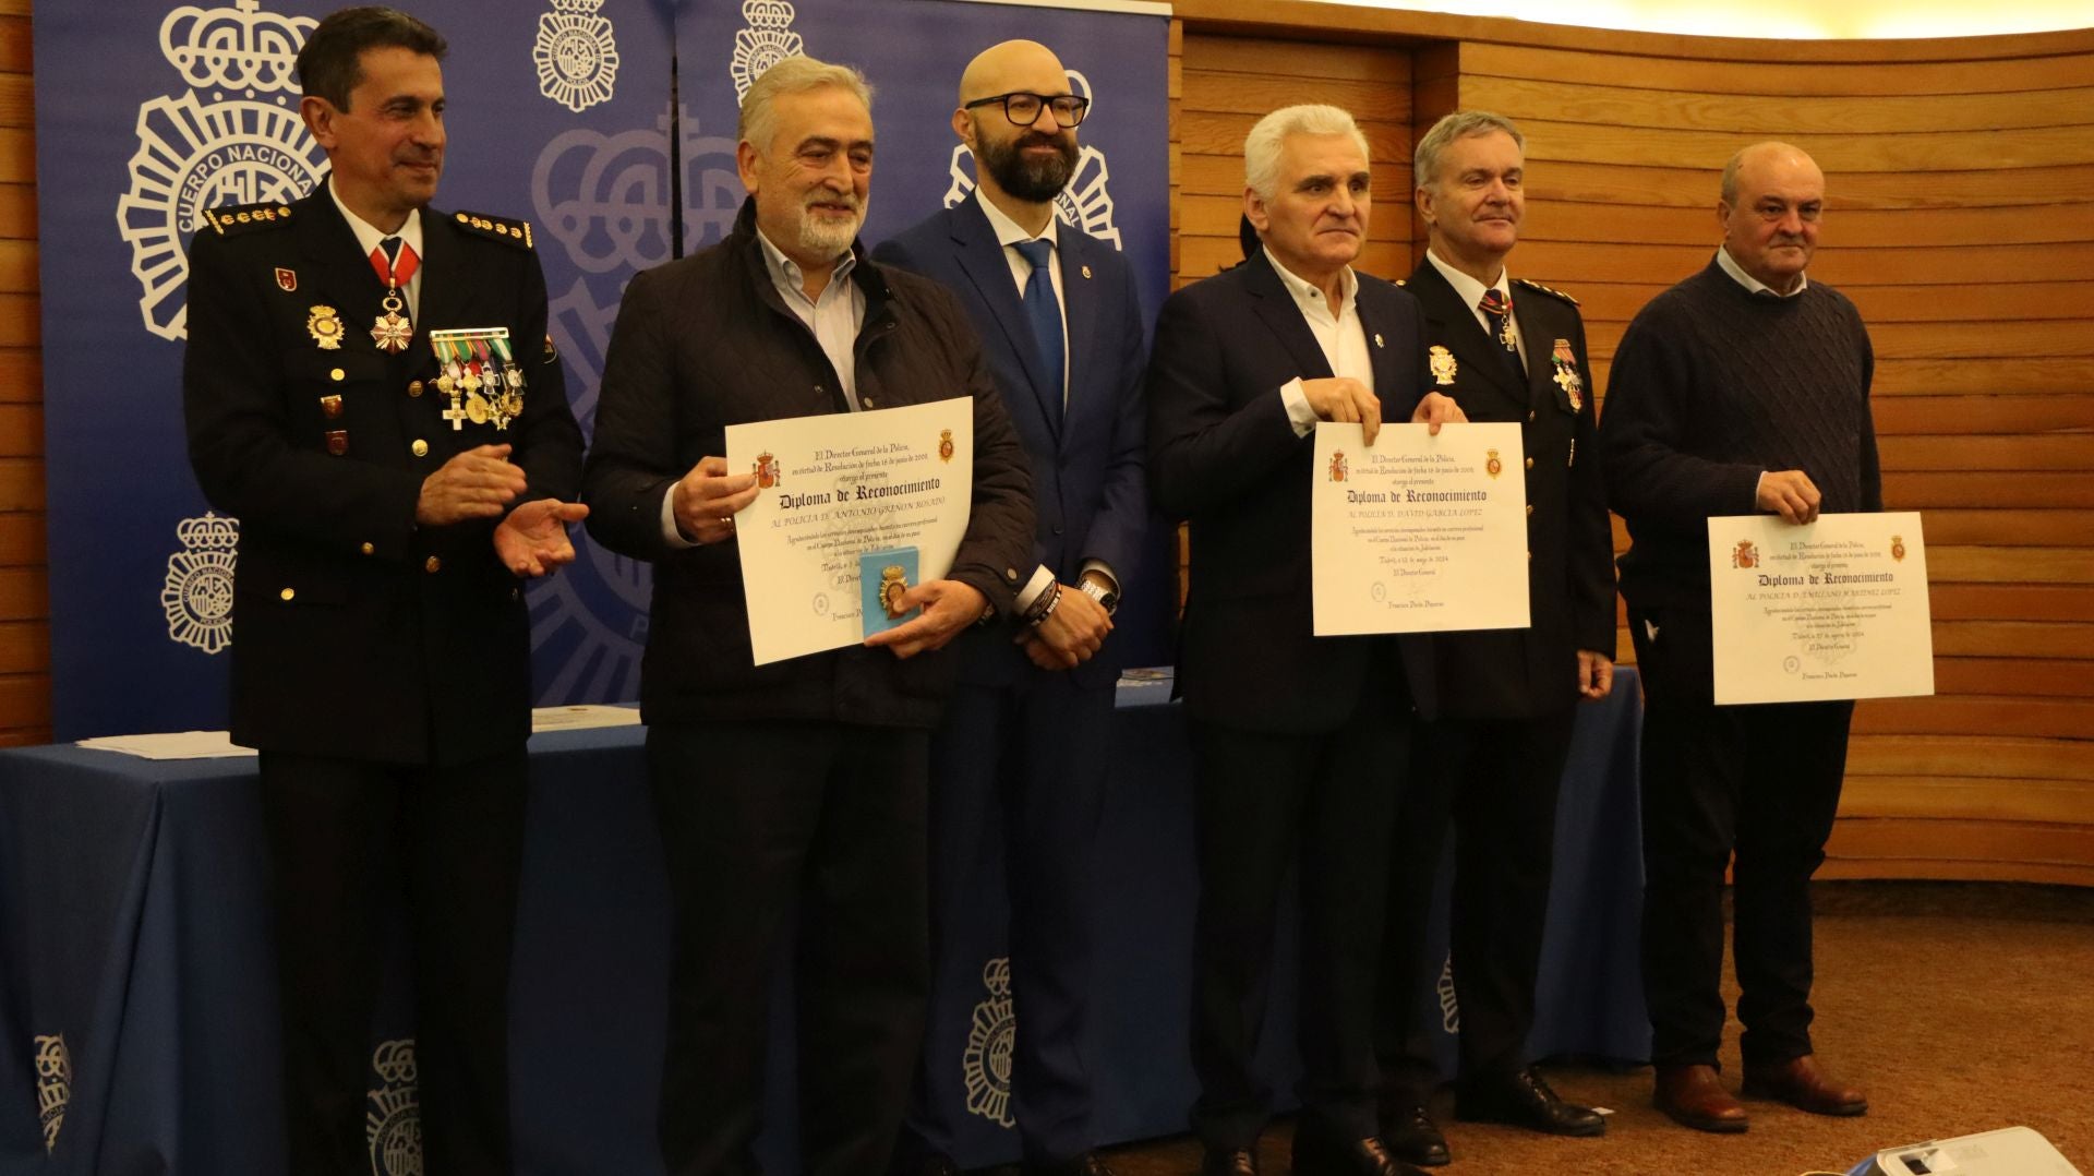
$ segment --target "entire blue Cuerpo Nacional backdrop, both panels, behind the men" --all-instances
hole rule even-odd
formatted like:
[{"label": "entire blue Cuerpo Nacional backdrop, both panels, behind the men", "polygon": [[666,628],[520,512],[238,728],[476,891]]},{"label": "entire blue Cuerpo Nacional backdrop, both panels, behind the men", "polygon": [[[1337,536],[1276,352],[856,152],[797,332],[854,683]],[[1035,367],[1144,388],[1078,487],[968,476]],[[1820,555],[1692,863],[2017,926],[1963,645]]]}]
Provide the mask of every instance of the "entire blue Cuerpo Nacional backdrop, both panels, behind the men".
[{"label": "entire blue Cuerpo Nacional backdrop, both panels, behind the men", "polygon": [[[207,509],[182,442],[186,245],[203,210],[306,193],[327,159],[291,63],[314,0],[52,4],[36,36],[52,727],[61,740],[222,727],[239,522]],[[733,130],[779,57],[848,61],[877,88],[867,241],[972,189],[949,113],[965,61],[1030,36],[1093,101],[1062,216],[1168,291],[1168,21],[961,0],[421,0],[452,44],[438,208],[528,218],[584,434],[632,273],[725,235]],[[670,103],[678,92],[681,105]],[[676,138],[674,151],[670,138]],[[678,174],[672,178],[672,159]],[[1166,660],[1158,530],[1131,576],[1133,665]],[[530,589],[540,704],[639,696],[645,564],[595,545]]]}]

